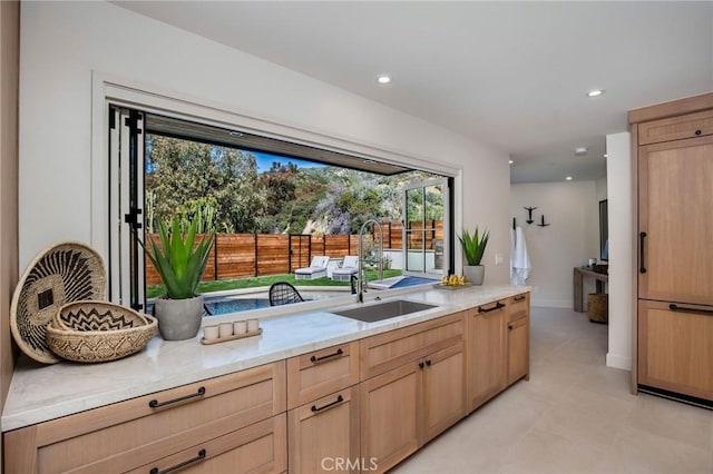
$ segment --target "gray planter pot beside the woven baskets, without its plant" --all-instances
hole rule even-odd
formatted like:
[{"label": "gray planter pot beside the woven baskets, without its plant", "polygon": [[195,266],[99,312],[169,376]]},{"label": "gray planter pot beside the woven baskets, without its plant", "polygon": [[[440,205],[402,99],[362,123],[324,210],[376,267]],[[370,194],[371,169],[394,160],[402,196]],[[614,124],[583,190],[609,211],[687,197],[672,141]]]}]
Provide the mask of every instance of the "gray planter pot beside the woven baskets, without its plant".
[{"label": "gray planter pot beside the woven baskets, without its plant", "polygon": [[164,339],[191,339],[198,334],[203,319],[203,295],[189,299],[158,298],[154,308],[158,332]]}]

